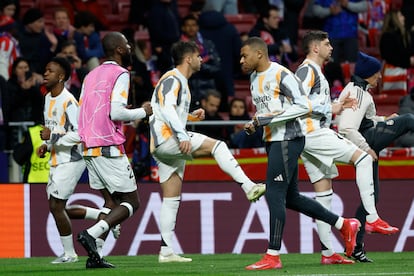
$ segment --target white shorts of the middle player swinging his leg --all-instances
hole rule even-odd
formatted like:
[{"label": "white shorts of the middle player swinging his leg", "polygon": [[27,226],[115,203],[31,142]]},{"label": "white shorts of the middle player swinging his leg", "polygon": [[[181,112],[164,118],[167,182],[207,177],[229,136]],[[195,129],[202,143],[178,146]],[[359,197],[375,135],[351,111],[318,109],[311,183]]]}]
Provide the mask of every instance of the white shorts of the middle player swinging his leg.
[{"label": "white shorts of the middle player swinging his leg", "polygon": [[[197,132],[188,132],[191,142],[191,152],[198,150],[207,138],[204,134]],[[183,179],[185,161],[192,160],[191,155],[183,154],[179,148],[179,142],[175,138],[170,138],[158,147],[152,153],[158,165],[158,175],[160,183],[167,181],[173,173]]]}]

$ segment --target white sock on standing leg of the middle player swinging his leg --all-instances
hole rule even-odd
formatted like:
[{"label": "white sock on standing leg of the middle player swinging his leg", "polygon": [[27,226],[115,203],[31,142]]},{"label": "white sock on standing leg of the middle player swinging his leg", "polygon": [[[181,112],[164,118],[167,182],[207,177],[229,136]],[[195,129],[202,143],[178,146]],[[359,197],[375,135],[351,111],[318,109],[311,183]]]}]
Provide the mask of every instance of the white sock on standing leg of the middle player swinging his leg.
[{"label": "white sock on standing leg of the middle player swinging his leg", "polygon": [[[160,230],[161,237],[166,243],[167,247],[172,250],[172,239],[174,236],[175,230],[175,221],[177,220],[178,207],[180,206],[181,198],[176,197],[164,197],[161,204],[161,214],[160,214]],[[167,248],[161,247],[161,254],[164,255],[164,252]],[[171,254],[171,253],[170,253]],[[167,254],[168,255],[168,254]]]}]

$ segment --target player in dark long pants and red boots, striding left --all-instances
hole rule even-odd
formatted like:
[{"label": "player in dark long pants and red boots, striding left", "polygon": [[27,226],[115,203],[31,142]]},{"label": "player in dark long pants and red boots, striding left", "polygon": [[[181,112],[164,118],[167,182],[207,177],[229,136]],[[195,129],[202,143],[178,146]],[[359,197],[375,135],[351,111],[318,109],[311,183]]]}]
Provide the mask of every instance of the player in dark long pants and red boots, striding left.
[{"label": "player in dark long pants and red boots, striding left", "polygon": [[252,101],[257,110],[245,130],[253,133],[256,128],[264,127],[263,139],[268,156],[265,197],[270,211],[267,252],[246,269],[282,267],[279,250],[286,208],[335,226],[342,234],[347,255],[350,255],[355,247],[359,221],[339,217],[299,193],[298,159],[305,145],[305,135],[298,118],[312,111],[300,80],[287,68],[269,60],[267,45],[258,37],[250,37],[243,43],[240,64],[245,72],[251,72]]}]

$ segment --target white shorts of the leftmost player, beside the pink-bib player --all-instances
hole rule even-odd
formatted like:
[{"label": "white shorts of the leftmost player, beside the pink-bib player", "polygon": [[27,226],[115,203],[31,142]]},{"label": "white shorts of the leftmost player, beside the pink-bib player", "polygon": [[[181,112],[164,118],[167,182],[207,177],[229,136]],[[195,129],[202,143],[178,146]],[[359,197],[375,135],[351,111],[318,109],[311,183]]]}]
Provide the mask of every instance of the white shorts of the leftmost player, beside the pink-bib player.
[{"label": "white shorts of the leftmost player, beside the pink-bib player", "polygon": [[85,168],[83,159],[50,167],[49,181],[46,187],[47,198],[49,199],[52,195],[57,199],[69,199]]}]

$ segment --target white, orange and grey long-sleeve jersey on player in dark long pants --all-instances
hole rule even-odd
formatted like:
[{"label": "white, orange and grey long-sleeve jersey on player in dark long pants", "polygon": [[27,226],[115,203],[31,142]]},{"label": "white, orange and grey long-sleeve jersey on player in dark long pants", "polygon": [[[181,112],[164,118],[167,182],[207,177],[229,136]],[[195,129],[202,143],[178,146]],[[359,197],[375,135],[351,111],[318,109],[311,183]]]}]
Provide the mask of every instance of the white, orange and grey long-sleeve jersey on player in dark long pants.
[{"label": "white, orange and grey long-sleeve jersey on player in dark long pants", "polygon": [[304,136],[299,117],[311,112],[311,104],[300,80],[289,69],[272,62],[266,71],[253,72],[250,83],[265,142]]}]

